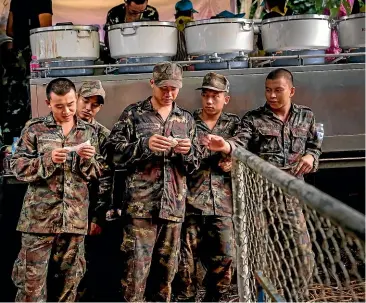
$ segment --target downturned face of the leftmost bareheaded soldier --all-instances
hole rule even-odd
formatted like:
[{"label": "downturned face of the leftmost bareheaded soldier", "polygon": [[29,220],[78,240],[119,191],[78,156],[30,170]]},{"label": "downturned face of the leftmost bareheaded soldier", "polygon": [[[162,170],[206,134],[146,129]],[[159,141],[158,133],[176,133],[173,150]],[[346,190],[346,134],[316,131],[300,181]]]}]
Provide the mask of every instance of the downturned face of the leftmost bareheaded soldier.
[{"label": "downturned face of the leftmost bareheaded soldier", "polygon": [[76,113],[76,93],[74,90],[69,91],[64,96],[56,95],[54,92],[50,94],[50,100],[47,105],[51,109],[56,122],[70,122]]}]

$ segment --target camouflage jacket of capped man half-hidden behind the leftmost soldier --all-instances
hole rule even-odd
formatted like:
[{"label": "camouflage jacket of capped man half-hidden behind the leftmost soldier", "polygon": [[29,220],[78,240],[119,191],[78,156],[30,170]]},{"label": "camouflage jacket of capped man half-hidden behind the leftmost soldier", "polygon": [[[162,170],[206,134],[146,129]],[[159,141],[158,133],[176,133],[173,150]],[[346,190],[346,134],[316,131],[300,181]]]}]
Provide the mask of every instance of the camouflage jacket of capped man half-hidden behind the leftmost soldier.
[{"label": "camouflage jacket of capped man half-hidden behind the leftmost soldier", "polygon": [[[94,126],[97,136],[99,153],[106,158],[106,143],[110,130],[95,119],[90,123]],[[113,169],[108,163],[103,175],[98,180],[89,183],[89,219],[99,225],[103,224],[108,209],[112,206]]]}]

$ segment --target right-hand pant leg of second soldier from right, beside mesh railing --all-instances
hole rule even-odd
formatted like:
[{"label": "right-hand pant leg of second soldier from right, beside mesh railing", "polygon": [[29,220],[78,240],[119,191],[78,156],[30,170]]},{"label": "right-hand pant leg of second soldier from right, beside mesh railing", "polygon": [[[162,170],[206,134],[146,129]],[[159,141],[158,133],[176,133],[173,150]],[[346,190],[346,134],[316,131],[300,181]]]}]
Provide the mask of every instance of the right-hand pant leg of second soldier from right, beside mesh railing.
[{"label": "right-hand pant leg of second soldier from right, beside mesh railing", "polygon": [[[231,217],[207,216],[200,248],[201,260],[207,268],[204,301],[219,301],[230,288],[235,254],[234,226]],[[202,229],[203,229],[202,228]]]}]

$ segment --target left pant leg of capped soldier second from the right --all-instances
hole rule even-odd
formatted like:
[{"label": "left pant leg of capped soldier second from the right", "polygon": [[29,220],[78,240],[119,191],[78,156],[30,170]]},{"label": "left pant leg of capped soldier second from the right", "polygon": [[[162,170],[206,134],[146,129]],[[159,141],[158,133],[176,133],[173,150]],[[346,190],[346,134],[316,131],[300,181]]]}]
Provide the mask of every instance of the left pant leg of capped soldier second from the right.
[{"label": "left pant leg of capped soldier second from the right", "polygon": [[174,299],[194,302],[197,295],[198,247],[201,242],[202,216],[187,216],[182,226],[178,272],[174,278]]}]

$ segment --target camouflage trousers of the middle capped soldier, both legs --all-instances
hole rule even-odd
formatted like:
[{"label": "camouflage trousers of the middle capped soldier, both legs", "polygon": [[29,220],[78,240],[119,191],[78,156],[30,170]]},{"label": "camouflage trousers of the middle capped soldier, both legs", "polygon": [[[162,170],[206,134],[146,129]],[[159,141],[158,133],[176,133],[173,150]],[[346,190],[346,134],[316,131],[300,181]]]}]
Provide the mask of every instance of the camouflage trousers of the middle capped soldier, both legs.
[{"label": "camouflage trousers of the middle capped soldier, both legs", "polygon": [[[169,302],[177,272],[182,223],[131,219],[123,228],[122,296],[127,302]],[[145,291],[146,289],[146,291]]]}]

